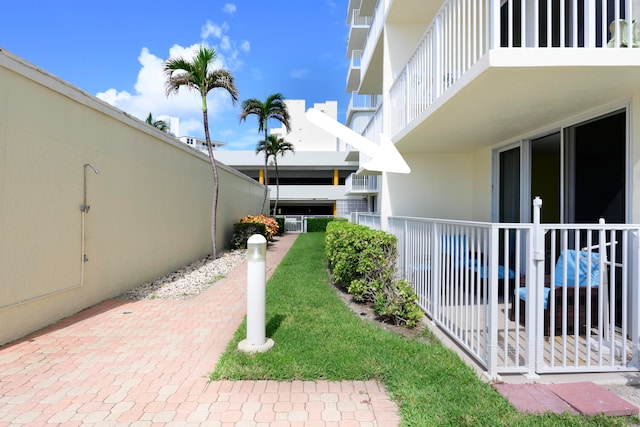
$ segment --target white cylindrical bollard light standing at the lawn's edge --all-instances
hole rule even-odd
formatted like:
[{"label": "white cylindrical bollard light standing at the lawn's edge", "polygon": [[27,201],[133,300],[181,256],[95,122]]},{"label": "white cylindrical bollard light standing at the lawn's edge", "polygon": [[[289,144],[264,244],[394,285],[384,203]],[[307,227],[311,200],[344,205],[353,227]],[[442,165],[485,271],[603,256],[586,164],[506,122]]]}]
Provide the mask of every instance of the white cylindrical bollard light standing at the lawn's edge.
[{"label": "white cylindrical bollard light standing at the lawn's edge", "polygon": [[247,241],[247,338],[238,343],[245,353],[263,353],[273,347],[266,338],[267,239],[254,234]]}]

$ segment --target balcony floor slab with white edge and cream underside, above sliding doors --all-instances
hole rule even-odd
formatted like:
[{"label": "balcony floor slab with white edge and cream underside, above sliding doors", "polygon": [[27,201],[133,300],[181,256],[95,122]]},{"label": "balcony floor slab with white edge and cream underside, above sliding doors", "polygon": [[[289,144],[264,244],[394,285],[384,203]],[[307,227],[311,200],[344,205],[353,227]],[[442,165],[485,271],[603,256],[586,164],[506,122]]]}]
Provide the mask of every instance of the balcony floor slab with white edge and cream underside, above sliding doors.
[{"label": "balcony floor slab with white edge and cream underside, above sliding doors", "polygon": [[640,92],[640,49],[496,49],[393,136],[401,153],[517,140]]}]

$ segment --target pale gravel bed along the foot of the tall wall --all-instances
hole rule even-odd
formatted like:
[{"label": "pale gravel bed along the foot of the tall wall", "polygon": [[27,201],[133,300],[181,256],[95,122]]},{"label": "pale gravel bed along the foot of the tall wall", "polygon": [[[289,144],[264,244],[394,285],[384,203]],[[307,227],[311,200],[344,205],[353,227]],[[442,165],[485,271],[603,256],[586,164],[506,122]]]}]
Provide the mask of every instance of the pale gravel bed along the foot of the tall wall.
[{"label": "pale gravel bed along the foot of the tall wall", "polygon": [[191,298],[225,277],[246,259],[246,249],[225,252],[217,259],[207,256],[153,282],[131,289],[120,295],[120,298],[129,300]]}]

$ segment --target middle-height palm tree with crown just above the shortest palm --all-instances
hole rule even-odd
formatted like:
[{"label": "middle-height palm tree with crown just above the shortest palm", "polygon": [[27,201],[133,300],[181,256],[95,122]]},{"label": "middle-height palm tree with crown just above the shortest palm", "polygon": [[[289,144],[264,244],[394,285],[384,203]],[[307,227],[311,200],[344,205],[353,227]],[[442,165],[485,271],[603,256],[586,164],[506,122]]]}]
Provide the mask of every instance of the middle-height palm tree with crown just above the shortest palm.
[{"label": "middle-height palm tree with crown just above the shortest palm", "polygon": [[[258,118],[258,132],[264,131],[264,141],[267,141],[267,128],[269,126],[269,119],[278,120],[287,129],[287,132],[291,131],[291,123],[289,117],[289,110],[287,104],[284,102],[284,96],[281,93],[274,93],[264,101],[251,98],[242,101],[242,112],[240,113],[240,121],[243,122],[251,114],[255,114]],[[267,179],[267,160],[269,153],[264,152],[264,200],[262,201],[262,209],[260,212],[264,212],[264,207],[267,203],[267,195],[269,194],[269,180]]]}]

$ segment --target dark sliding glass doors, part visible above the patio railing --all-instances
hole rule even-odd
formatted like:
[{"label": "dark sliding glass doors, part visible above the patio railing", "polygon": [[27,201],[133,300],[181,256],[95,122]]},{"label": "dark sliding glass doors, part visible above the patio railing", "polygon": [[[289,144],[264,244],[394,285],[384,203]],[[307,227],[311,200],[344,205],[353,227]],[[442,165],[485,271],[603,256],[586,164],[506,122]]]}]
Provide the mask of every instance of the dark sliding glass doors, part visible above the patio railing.
[{"label": "dark sliding glass doors, part visible above the patio railing", "polygon": [[624,223],[626,116],[617,111],[499,151],[498,221],[529,222],[529,199],[539,196],[545,223]]}]

